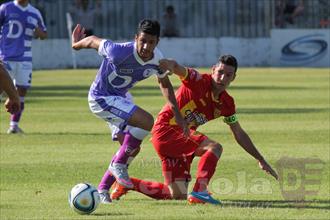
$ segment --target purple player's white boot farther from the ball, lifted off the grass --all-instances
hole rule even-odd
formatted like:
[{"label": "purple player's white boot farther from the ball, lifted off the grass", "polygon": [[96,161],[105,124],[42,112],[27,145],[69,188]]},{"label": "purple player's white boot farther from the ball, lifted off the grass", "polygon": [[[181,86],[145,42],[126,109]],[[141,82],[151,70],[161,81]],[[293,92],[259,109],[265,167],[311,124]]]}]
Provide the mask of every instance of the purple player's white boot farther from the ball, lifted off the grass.
[{"label": "purple player's white boot farther from the ball, lifted off the grass", "polygon": [[109,170],[116,178],[117,183],[126,188],[133,188],[133,183],[128,176],[127,165],[120,163],[110,163]]}]

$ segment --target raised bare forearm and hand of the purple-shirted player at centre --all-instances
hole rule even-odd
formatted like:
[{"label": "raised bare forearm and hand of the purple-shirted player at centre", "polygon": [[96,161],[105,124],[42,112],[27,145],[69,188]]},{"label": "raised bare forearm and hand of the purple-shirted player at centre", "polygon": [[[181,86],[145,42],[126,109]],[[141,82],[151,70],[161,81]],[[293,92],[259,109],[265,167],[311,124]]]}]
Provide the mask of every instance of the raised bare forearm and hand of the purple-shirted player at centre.
[{"label": "raised bare forearm and hand of the purple-shirted player at centre", "polygon": [[93,48],[95,50],[99,49],[102,39],[96,36],[86,37],[85,28],[80,24],[74,28],[72,32],[72,48],[75,50],[80,50],[84,48]]}]

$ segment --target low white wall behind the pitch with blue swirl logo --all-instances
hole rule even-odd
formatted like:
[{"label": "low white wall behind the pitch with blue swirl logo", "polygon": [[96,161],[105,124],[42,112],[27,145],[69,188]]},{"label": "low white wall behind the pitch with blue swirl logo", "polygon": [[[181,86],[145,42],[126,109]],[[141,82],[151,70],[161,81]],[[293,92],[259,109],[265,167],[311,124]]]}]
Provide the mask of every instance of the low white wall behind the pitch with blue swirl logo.
[{"label": "low white wall behind the pitch with blue swirl logo", "polygon": [[[165,57],[193,67],[213,65],[222,54],[232,54],[239,66],[330,67],[330,30],[273,30],[271,38],[162,38]],[[72,68],[68,39],[33,42],[35,69]],[[102,58],[93,49],[74,51],[78,68],[98,67]]]}]

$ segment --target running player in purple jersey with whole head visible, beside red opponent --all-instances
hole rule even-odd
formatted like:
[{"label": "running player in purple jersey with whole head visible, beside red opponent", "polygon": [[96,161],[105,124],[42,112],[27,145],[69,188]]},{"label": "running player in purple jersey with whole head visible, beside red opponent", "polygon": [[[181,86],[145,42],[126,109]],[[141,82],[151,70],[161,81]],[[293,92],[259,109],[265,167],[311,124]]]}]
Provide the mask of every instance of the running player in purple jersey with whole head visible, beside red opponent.
[{"label": "running player in purple jersey with whole head visible, beside red opponent", "polygon": [[133,187],[127,166],[139,152],[142,140],[149,134],[154,123],[152,115],[135,105],[128,96],[130,88],[137,82],[156,75],[160,89],[185,134],[188,134],[188,127],[179,113],[167,73],[162,73],[158,66],[163,57],[156,47],[160,34],[158,21],[142,20],[135,40],[126,43],[115,43],[96,36],[85,37],[84,31],[79,24],[75,27],[72,48],[93,48],[103,56],[103,62],[89,90],[90,109],[122,137],[121,147],[112,158],[98,188],[101,201],[110,203],[108,191],[115,180],[127,188]]}]

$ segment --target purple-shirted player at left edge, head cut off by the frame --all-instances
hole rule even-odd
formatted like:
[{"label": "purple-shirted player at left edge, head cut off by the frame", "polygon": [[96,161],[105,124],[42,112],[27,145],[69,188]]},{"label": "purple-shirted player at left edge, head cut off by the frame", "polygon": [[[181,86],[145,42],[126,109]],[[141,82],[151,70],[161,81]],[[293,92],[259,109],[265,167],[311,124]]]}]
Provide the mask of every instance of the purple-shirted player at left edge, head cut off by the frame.
[{"label": "purple-shirted player at left edge, head cut off by the frame", "polygon": [[24,97],[31,86],[32,37],[45,39],[46,26],[38,9],[28,0],[15,0],[0,6],[0,59],[17,88],[21,110],[11,114],[7,133],[22,133],[18,127],[24,110]]}]

